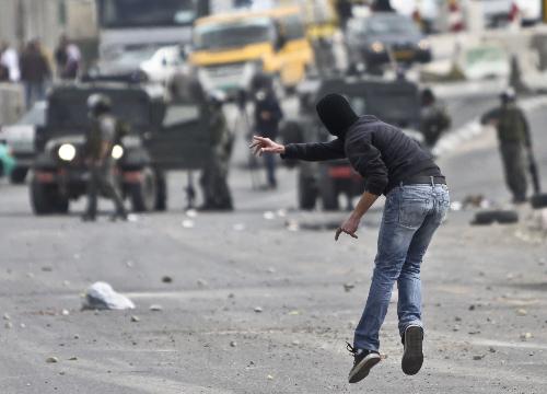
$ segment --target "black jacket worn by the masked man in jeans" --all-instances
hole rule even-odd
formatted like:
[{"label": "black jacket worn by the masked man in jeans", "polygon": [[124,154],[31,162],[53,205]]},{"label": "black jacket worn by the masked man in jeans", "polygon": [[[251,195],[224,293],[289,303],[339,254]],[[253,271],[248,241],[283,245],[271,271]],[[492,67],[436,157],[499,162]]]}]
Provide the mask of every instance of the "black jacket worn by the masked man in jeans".
[{"label": "black jacket worn by the masked man in jeans", "polygon": [[361,116],[330,142],[289,143],[283,159],[325,161],[348,159],[365,179],[365,190],[380,196],[416,176],[442,176],[429,153],[401,130]]}]

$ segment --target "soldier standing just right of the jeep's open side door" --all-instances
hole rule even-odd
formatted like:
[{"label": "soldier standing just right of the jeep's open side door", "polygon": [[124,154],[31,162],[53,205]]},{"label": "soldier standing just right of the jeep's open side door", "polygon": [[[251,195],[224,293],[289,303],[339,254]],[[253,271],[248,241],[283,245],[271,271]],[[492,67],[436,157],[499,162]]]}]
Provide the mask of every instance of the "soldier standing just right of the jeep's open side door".
[{"label": "soldier standing just right of the jeep's open side door", "polygon": [[207,103],[211,152],[201,173],[203,205],[200,210],[233,210],[228,173],[234,137],[224,116],[224,101],[222,92],[212,92]]}]

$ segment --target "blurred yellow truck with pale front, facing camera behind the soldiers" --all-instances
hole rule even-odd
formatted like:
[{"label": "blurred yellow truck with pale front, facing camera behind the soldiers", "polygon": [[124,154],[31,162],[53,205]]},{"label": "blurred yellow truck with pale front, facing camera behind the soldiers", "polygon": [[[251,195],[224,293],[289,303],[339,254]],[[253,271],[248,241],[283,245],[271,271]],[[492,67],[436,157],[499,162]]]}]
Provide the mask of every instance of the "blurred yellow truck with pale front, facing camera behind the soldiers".
[{"label": "blurred yellow truck with pale front, facing camera behind the soldiers", "polygon": [[233,96],[258,73],[293,89],[313,63],[313,50],[298,7],[202,18],[194,26],[190,63],[206,90]]}]

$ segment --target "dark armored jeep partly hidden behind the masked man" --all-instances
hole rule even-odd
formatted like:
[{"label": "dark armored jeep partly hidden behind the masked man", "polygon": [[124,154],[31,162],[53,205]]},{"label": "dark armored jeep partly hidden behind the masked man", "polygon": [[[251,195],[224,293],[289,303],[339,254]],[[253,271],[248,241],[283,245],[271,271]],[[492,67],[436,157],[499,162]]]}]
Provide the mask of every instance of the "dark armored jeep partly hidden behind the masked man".
[{"label": "dark armored jeep partly hidden behind the masked man", "polygon": [[[358,114],[375,115],[400,127],[407,135],[421,142],[420,101],[418,86],[405,80],[385,80],[374,77],[347,77],[327,80],[309,80],[299,86],[300,114],[289,119],[281,129],[284,143],[325,142],[333,137],[319,123],[315,103],[328,93],[345,95]],[[339,209],[339,195],[347,196],[348,209],[352,197],[362,194],[364,182],[347,160],[323,163],[292,162],[299,166],[298,199],[301,209],[314,209],[317,198],[323,209]]]}]

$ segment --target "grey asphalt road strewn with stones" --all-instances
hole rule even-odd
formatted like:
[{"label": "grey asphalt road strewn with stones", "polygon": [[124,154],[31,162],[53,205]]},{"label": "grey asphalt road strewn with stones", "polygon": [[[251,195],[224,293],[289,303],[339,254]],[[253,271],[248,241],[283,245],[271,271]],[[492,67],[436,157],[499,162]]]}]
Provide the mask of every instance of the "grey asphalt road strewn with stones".
[{"label": "grey asphalt road strewn with stones", "polygon": [[[493,102],[449,104],[461,126]],[[547,174],[545,107],[529,115]],[[368,293],[381,206],[358,241],[335,243],[330,228],[346,213],[295,210],[294,171],[280,170],[275,193],[252,190],[237,165],[244,146],[231,174],[234,213],[186,216],[183,174],[170,177],[168,212],[128,223],[82,223],[82,202],[71,216],[36,218],[25,186],[0,184],[0,393],[546,392],[547,243],[527,229],[525,208],[505,227],[470,227],[473,210],[451,213],[423,265],[423,369],[400,371],[394,303],[385,359],[350,386],[345,341]],[[453,200],[509,200],[493,132],[439,163]],[[80,311],[97,280],[137,309]]]}]

